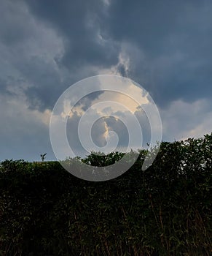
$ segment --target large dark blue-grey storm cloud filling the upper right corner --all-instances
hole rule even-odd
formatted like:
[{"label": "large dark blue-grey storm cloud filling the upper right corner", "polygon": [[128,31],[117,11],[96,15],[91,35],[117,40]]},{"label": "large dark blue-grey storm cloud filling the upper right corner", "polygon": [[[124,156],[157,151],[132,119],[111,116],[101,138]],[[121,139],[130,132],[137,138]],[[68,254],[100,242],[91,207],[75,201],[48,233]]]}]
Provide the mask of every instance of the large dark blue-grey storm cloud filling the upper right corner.
[{"label": "large dark blue-grey storm cloud filling the upper right corner", "polygon": [[211,97],[211,11],[211,1],[111,1],[102,26],[127,42],[130,78],[165,106]]}]

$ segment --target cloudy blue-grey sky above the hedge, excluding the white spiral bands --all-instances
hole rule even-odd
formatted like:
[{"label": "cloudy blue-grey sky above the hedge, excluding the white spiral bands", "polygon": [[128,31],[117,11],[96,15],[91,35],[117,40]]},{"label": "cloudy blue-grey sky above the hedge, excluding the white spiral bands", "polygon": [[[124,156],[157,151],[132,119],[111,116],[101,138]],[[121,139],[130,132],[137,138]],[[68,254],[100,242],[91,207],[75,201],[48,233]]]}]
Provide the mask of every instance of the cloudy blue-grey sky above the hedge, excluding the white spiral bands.
[{"label": "cloudy blue-grey sky above the hedge, excluding the white spiral bands", "polygon": [[[55,102],[69,86],[95,75],[130,78],[148,91],[160,112],[162,140],[211,134],[212,1],[0,0],[0,5],[0,161],[38,161],[44,153],[55,159],[50,143]],[[77,154],[79,119],[105,97],[120,95],[87,95],[68,114]],[[113,111],[117,118],[99,118],[93,125],[98,146],[111,130],[120,146],[127,144],[118,118],[123,111]],[[148,120],[141,119],[146,143]]]}]

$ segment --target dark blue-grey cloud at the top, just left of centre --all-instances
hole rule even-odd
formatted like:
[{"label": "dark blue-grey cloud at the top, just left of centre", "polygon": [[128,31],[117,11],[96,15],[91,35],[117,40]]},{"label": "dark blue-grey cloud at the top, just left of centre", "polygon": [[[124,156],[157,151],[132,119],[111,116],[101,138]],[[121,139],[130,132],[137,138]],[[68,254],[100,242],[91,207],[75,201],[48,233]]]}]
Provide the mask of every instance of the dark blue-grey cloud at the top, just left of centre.
[{"label": "dark blue-grey cloud at the top, just left of centre", "polygon": [[117,63],[119,45],[101,38],[100,20],[106,18],[103,1],[26,1],[31,12],[63,37],[62,64],[78,69],[85,64],[109,67]]}]

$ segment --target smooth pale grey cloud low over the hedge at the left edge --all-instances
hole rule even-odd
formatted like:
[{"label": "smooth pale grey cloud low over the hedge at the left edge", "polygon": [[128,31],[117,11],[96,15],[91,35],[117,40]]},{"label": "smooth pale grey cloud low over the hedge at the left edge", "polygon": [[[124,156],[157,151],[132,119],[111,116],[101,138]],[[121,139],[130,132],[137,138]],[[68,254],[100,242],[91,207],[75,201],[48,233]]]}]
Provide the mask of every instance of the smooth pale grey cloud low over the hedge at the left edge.
[{"label": "smooth pale grey cloud low over the hedge at the left edge", "polygon": [[49,129],[31,111],[24,100],[0,95],[0,161],[26,159],[40,161],[40,154],[55,159],[49,140]]}]

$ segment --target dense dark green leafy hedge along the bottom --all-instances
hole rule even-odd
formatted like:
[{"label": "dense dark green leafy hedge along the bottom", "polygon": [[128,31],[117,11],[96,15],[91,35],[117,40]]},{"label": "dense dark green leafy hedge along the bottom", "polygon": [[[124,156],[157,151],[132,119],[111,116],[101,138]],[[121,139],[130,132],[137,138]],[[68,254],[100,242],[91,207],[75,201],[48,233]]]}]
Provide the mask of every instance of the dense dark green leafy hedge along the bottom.
[{"label": "dense dark green leafy hedge along the bottom", "polygon": [[142,171],[145,155],[104,182],[76,178],[58,162],[1,162],[0,255],[211,255],[212,134],[163,142]]}]

